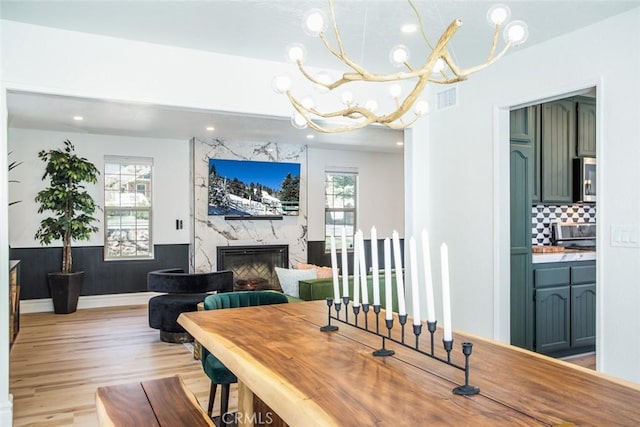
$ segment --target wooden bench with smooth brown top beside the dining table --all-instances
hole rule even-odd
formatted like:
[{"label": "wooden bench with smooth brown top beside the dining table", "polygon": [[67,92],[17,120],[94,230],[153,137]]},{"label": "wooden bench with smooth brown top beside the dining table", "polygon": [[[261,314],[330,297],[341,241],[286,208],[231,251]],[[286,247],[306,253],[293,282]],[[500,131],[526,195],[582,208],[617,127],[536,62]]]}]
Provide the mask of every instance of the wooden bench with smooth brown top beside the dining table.
[{"label": "wooden bench with smooth brown top beside the dining table", "polygon": [[214,426],[180,376],[99,387],[96,410],[101,426]]}]

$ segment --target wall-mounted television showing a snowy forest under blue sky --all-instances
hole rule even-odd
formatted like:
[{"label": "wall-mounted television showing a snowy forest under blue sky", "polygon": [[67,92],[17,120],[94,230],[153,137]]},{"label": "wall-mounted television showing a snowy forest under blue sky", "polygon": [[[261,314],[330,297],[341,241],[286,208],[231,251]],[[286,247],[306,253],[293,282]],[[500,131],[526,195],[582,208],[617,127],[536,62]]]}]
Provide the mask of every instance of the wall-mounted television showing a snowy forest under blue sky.
[{"label": "wall-mounted television showing a snowy forest under blue sky", "polygon": [[298,215],[300,163],[209,159],[209,215]]}]

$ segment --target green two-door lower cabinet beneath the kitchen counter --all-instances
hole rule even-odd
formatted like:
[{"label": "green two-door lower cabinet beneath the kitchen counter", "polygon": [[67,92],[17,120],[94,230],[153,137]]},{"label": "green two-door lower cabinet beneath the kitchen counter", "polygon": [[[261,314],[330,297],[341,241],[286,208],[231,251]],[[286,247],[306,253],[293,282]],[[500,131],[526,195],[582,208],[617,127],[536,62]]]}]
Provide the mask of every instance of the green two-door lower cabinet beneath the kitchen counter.
[{"label": "green two-door lower cabinet beneath the kitchen counter", "polygon": [[535,350],[570,354],[595,346],[595,262],[534,264]]}]

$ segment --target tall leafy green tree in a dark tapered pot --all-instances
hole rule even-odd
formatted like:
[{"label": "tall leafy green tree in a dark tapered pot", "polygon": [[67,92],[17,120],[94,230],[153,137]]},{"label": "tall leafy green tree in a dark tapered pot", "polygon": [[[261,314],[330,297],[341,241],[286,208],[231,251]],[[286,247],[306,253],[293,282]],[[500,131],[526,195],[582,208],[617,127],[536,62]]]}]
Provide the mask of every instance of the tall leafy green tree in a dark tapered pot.
[{"label": "tall leafy green tree in a dark tapered pot", "polygon": [[62,271],[49,273],[47,278],[54,312],[73,313],[84,272],[73,271],[71,242],[89,240],[98,231],[92,225],[97,221],[92,216],[97,206],[83,184],[95,184],[100,172],[93,163],[75,154],[69,140],[64,141],[63,149],[42,150],[38,157],[46,164],[42,180],[49,180],[49,186],[36,195],[38,213],[51,211],[53,215],[40,222],[35,237],[43,245],[62,240]]}]

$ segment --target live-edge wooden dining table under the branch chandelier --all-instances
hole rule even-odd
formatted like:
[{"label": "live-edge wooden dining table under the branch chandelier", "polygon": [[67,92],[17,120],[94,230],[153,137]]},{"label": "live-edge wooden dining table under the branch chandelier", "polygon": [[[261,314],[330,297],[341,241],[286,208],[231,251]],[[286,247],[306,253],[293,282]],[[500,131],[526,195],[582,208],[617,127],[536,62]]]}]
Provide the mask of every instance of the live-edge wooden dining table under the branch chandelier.
[{"label": "live-edge wooden dining table under the branch chandelier", "polygon": [[[335,319],[338,330],[321,332],[325,301],[183,313],[178,322],[238,377],[239,425],[273,417],[305,427],[640,423],[637,384],[457,331],[451,360],[464,366],[461,343],[473,343],[468,381],[480,392],[453,394],[465,382],[455,366],[390,341],[392,356],[374,356],[380,336]],[[375,330],[372,311],[367,322]],[[378,327],[386,333],[384,310]],[[400,338],[397,317],[392,332]],[[414,345],[411,320],[405,333]],[[446,358],[440,328],[434,342]],[[428,343],[423,328],[421,349]]]}]

